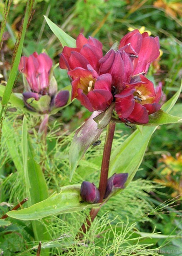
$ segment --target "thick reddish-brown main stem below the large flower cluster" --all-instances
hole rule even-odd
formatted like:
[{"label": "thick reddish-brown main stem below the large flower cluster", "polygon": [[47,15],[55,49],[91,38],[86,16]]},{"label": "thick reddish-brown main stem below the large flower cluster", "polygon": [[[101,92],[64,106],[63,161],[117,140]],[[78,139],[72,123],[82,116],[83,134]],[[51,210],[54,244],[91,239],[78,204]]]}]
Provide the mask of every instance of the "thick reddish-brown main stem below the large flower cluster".
[{"label": "thick reddish-brown main stem below the large flower cluster", "polygon": [[[101,166],[101,173],[100,173],[100,181],[99,181],[99,192],[100,192],[100,200],[98,203],[102,203],[104,199],[104,195],[106,192],[107,187],[107,179],[108,179],[108,171],[109,171],[109,161],[111,156],[111,148],[113,143],[113,137],[114,137],[114,130],[115,130],[115,123],[110,122],[107,125],[107,132],[106,132],[106,139],[104,144],[104,152],[102,157],[102,166]],[[79,237],[82,237],[81,231],[86,233],[86,231],[90,228],[91,222],[95,219],[97,216],[99,208],[92,208],[90,211],[90,216],[86,218],[86,225],[83,224],[80,228],[80,232],[78,233]],[[91,220],[91,221],[90,221]]]}]

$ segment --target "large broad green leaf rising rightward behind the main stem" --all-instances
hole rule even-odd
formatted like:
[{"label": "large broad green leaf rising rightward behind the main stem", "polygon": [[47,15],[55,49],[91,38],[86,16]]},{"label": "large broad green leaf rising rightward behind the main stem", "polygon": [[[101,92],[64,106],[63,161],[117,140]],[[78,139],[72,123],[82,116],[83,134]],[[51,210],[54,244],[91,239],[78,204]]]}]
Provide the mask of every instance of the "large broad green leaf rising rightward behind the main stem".
[{"label": "large broad green leaf rising rightward behind the main stem", "polygon": [[[182,84],[178,92],[176,92],[174,96],[162,106],[164,111],[169,112],[174,106],[181,92],[181,88]],[[169,118],[168,115],[167,118]],[[114,173],[128,173],[128,179],[125,183],[126,185],[133,179],[142,162],[149,140],[156,129],[157,126],[143,126],[142,132],[137,129],[120,145],[120,147],[113,150],[110,160],[109,177]]]}]

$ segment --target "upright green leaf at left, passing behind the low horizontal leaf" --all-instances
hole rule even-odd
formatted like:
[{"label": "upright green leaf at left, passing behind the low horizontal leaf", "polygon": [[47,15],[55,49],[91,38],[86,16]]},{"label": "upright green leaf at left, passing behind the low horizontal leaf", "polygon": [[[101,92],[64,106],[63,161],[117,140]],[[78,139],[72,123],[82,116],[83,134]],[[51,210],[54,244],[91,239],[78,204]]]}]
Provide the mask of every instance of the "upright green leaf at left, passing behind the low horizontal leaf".
[{"label": "upright green leaf at left, passing behind the low horizontal leaf", "polygon": [[[36,204],[48,197],[47,184],[40,165],[35,161],[35,153],[28,136],[26,117],[23,119],[22,126],[22,158],[25,176],[26,194],[28,205]],[[16,212],[16,211],[13,211]],[[40,217],[41,218],[41,217]],[[33,233],[36,240],[50,240],[51,236],[47,233],[46,226],[39,221],[32,221]],[[48,252],[44,252],[48,255]],[[47,254],[46,254],[47,253]]]}]

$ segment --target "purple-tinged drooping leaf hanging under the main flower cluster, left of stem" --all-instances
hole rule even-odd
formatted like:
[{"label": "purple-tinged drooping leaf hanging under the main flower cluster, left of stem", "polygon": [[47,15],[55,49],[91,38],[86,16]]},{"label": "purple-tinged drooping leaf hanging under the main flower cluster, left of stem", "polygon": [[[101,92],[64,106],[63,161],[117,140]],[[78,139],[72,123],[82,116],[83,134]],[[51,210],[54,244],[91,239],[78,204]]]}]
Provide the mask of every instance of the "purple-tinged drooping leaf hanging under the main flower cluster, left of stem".
[{"label": "purple-tinged drooping leaf hanging under the main flower cluster, left of stem", "polygon": [[75,136],[69,149],[70,180],[79,161],[89,146],[98,140],[102,129],[98,129],[97,123],[93,120],[100,112],[94,111],[90,118],[75,132]]}]

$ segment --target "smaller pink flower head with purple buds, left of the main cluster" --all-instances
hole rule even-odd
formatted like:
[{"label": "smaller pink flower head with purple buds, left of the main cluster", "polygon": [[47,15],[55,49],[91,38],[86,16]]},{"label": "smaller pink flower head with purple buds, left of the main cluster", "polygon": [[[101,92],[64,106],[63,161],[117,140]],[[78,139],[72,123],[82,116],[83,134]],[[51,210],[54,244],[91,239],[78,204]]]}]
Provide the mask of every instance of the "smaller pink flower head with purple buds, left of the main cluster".
[{"label": "smaller pink flower head with purple buds, left of the main cluster", "polygon": [[27,108],[48,113],[53,108],[66,105],[68,91],[57,92],[57,83],[51,72],[53,60],[46,54],[34,52],[21,57],[19,71],[24,75],[23,99]]}]

